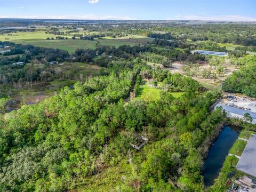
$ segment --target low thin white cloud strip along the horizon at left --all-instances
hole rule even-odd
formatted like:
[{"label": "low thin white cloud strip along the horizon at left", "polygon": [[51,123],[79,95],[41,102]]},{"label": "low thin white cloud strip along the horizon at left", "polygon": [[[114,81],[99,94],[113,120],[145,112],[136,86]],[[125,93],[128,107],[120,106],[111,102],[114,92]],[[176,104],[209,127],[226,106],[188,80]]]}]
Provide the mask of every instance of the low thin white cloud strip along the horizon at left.
[{"label": "low thin white cloud strip along the horizon at left", "polygon": [[135,20],[136,18],[127,16],[105,15],[99,16],[94,14],[88,15],[0,15],[0,18],[17,18],[17,19],[81,19],[81,20]]}]

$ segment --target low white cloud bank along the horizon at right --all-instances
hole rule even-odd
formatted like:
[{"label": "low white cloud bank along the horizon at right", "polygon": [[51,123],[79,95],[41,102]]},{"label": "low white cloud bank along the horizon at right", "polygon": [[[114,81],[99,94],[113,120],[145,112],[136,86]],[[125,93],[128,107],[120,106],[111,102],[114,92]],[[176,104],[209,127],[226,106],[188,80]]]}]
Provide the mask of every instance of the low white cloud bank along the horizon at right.
[{"label": "low white cloud bank along the horizon at right", "polygon": [[203,20],[203,21],[256,21],[256,18],[244,15],[211,15],[211,14],[188,14],[176,15],[166,20]]}]

